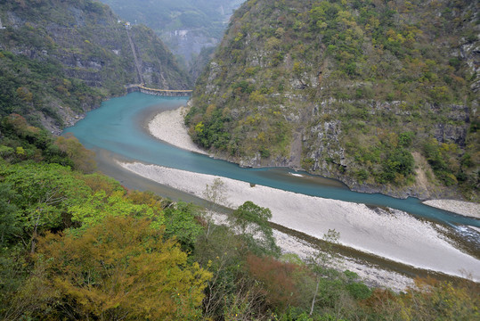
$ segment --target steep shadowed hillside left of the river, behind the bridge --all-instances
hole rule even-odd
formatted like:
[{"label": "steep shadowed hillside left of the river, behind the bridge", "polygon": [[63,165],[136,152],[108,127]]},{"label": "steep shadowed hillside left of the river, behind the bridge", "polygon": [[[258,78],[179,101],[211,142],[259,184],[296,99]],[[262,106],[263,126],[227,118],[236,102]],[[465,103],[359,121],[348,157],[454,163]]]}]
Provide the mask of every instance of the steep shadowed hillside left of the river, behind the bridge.
[{"label": "steep shadowed hillside left of the river, behind the bridge", "polygon": [[190,86],[151,29],[126,30],[104,4],[7,0],[0,19],[0,116],[19,113],[58,131],[103,98],[123,95],[140,81],[127,31],[147,86]]}]

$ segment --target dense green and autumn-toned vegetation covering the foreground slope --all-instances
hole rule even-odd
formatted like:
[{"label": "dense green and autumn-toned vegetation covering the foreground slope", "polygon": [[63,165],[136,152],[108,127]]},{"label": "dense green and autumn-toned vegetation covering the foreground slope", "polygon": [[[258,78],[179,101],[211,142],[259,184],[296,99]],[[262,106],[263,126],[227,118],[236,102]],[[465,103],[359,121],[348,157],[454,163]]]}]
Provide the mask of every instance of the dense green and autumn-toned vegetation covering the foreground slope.
[{"label": "dense green and autumn-toned vegetation covering the foreground slope", "polygon": [[[20,115],[0,121],[0,318],[4,320],[475,319],[477,284],[370,289],[326,245],[281,255],[270,210],[211,210],[89,174],[93,154]],[[222,184],[206,187],[222,198]],[[235,233],[232,233],[235,232]],[[338,242],[329,231],[325,240]]]}]

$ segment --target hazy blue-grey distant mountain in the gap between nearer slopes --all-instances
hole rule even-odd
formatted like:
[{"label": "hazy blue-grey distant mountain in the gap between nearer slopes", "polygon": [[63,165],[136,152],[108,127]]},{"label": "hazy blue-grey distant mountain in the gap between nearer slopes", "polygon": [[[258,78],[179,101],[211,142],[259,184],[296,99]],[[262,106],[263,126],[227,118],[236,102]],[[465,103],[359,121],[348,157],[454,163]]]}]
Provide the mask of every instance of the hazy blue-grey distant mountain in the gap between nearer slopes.
[{"label": "hazy blue-grey distant mountain in the gap between nearer slopes", "polygon": [[202,48],[215,47],[232,11],[244,0],[101,0],[128,21],[153,29],[192,74],[204,67]]}]

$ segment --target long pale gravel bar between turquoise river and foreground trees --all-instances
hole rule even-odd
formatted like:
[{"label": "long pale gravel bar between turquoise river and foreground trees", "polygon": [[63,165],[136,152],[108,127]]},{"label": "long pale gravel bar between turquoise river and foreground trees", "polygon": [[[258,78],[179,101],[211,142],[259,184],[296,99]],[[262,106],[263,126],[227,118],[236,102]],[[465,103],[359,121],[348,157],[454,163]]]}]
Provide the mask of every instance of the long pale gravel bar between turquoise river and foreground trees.
[{"label": "long pale gravel bar between turquoise river and foreground trees", "polygon": [[480,260],[455,248],[446,228],[420,221],[400,210],[370,209],[364,204],[343,202],[262,185],[251,186],[227,177],[169,169],[140,162],[120,164],[123,168],[159,184],[202,197],[214,179],[224,182],[226,203],[232,208],[255,202],[272,210],[272,221],[321,239],[329,229],[340,233],[340,243],[359,251],[429,269],[451,276],[471,275],[480,281]]}]

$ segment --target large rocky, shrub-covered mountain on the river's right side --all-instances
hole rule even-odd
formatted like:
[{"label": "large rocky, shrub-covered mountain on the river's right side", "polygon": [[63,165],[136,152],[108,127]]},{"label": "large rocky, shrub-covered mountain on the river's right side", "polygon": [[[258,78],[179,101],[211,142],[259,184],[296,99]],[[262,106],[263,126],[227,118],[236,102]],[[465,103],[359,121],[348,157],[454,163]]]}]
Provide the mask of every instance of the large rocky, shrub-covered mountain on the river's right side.
[{"label": "large rocky, shrub-covered mountain on the river's right side", "polygon": [[478,200],[478,9],[250,0],[197,80],[191,136],[242,166]]}]

